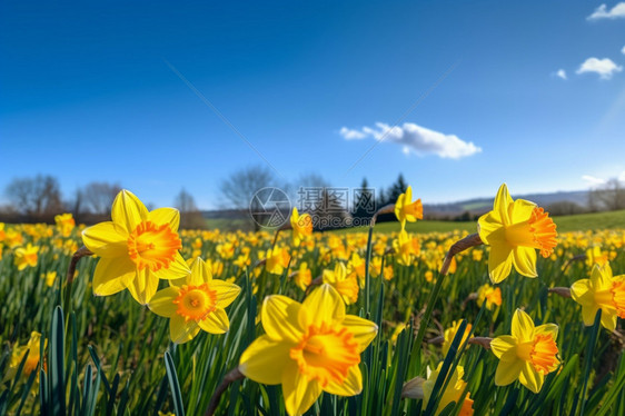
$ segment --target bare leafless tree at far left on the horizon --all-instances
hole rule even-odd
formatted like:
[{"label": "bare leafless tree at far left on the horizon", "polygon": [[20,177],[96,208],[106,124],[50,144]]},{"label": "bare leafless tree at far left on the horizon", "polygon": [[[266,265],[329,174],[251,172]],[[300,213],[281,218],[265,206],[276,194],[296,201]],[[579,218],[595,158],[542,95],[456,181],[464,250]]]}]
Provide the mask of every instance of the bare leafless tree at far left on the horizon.
[{"label": "bare leafless tree at far left on the horizon", "polygon": [[13,179],[6,189],[12,206],[27,220],[50,220],[63,210],[59,181],[52,176]]}]

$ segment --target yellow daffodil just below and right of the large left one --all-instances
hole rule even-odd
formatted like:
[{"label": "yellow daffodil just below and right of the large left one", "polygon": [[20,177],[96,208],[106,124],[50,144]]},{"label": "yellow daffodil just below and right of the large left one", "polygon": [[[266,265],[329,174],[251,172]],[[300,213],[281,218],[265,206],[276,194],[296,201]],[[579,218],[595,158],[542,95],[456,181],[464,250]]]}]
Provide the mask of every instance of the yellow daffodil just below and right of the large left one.
[{"label": "yellow daffodil just below and right of the large left one", "polygon": [[157,291],[148,307],[155,314],[169,318],[169,335],[173,343],[187,343],[200,329],[209,334],[228,331],[230,321],[224,308],[236,299],[240,287],[214,279],[210,268],[199,257],[192,263],[187,277],[170,283],[179,286]]}]

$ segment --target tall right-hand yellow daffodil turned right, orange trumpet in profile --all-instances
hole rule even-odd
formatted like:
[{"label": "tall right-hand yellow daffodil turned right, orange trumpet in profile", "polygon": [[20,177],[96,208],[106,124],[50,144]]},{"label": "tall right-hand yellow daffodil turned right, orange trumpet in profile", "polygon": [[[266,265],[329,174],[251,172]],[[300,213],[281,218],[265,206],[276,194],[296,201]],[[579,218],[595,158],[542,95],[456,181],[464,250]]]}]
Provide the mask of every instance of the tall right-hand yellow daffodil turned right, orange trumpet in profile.
[{"label": "tall right-hand yellow daffodil turned right, orange trumpet in profile", "polygon": [[536,249],[545,258],[556,247],[556,225],[549,215],[534,202],[512,199],[506,184],[502,185],[493,210],[477,221],[479,238],[490,246],[488,275],[494,284],[510,274],[512,266],[527,277],[536,273]]}]

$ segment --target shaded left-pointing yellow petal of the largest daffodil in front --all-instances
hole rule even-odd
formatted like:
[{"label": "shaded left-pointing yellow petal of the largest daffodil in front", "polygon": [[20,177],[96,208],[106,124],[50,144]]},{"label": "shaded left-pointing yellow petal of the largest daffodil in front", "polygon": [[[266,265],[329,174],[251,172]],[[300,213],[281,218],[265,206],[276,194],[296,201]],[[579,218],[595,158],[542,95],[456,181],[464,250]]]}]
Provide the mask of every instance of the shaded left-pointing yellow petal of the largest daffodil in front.
[{"label": "shaded left-pointing yellow petal of the largest daffodil in front", "polygon": [[239,361],[239,372],[262,384],[280,384],[289,357],[290,346],[261,335],[247,347]]}]

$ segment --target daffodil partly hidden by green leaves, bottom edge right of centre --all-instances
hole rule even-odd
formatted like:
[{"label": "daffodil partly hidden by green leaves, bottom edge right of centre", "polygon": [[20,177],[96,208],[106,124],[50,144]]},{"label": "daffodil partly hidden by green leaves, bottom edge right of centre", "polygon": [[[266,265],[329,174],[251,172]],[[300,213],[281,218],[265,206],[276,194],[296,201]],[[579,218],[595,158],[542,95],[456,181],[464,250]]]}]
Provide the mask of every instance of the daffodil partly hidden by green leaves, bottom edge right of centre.
[{"label": "daffodil partly hidden by green leaves, bottom edge right of centre", "polygon": [[[407,398],[421,398],[424,400],[424,406],[427,407],[429,399],[431,398],[431,393],[434,392],[434,385],[436,384],[436,379],[438,378],[438,374],[440,373],[440,368],[443,363],[438,363],[438,367],[435,370],[431,370],[427,367],[427,379],[421,377],[415,377],[406,384],[404,384],[404,388],[401,389],[401,397]],[[463,380],[463,376],[465,375],[465,368],[463,366],[456,366],[454,373],[447,377],[449,378],[449,384],[447,388],[443,393],[440,397],[440,402],[438,402],[438,408],[436,409],[435,414],[439,415],[445,407],[452,402],[458,403],[463,393],[467,386],[467,383]],[[470,416],[473,415],[473,400],[470,398],[469,393],[465,396],[463,405],[460,407],[460,412],[458,413],[459,416]]]}]

